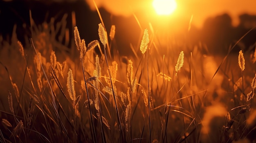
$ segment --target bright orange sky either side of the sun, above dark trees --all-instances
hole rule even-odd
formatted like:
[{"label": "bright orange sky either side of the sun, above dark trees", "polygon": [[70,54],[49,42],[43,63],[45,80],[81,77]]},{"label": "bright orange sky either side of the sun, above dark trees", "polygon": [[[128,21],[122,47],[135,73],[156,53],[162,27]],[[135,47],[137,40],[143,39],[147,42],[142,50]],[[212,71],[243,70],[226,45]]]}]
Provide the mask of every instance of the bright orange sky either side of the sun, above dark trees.
[{"label": "bright orange sky either side of the sun, above dark trees", "polygon": [[[129,16],[132,12],[153,12],[153,0],[95,0],[98,7],[104,7],[114,15]],[[94,9],[92,0],[86,0]],[[228,13],[233,25],[239,23],[238,15],[249,13],[256,15],[256,0],[176,0],[175,17],[189,20],[193,15],[192,24],[201,27],[207,17]]]}]

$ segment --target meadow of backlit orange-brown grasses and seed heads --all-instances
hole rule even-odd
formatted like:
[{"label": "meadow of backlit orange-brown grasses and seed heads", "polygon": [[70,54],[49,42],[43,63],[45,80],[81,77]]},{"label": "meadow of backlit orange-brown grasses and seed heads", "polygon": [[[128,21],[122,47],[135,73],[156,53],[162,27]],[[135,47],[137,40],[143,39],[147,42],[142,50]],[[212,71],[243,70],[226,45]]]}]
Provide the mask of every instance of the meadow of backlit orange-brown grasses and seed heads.
[{"label": "meadow of backlit orange-brown grasses and seed heads", "polygon": [[0,142],[255,142],[255,50],[211,55],[171,38],[160,48],[150,27],[119,55],[115,25],[98,26],[85,43],[65,18],[31,18],[26,44],[15,27],[0,39]]}]

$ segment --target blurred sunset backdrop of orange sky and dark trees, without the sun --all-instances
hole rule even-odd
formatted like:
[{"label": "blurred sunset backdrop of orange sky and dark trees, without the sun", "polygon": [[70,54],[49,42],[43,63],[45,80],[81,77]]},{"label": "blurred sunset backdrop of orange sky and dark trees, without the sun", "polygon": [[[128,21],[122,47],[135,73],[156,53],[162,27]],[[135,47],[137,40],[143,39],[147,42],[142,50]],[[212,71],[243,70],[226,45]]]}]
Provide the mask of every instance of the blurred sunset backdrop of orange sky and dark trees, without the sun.
[{"label": "blurred sunset backdrop of orange sky and dark trees, without the sun", "polygon": [[[95,0],[103,18],[107,32],[116,25],[116,42],[120,54],[126,54],[130,44],[137,46],[141,29],[150,24],[161,36],[175,37],[175,40],[202,42],[209,53],[226,54],[249,29],[256,26],[256,2],[253,0],[176,0],[177,9],[169,16],[155,13],[152,0]],[[76,26],[87,43],[99,39],[98,24],[101,22],[92,0],[1,0],[0,39],[10,41],[13,26],[18,40],[25,43],[25,35],[31,37],[29,9],[35,24],[50,22],[55,24],[66,14],[67,28],[72,27],[72,12]],[[139,20],[135,19],[135,16]],[[192,17],[192,21],[190,22]],[[247,50],[255,45],[256,31],[253,30],[241,40],[234,52]],[[70,34],[72,38],[72,34]],[[168,38],[167,38],[168,39]],[[188,40],[189,39],[189,40]],[[162,46],[165,46],[163,44]]]}]

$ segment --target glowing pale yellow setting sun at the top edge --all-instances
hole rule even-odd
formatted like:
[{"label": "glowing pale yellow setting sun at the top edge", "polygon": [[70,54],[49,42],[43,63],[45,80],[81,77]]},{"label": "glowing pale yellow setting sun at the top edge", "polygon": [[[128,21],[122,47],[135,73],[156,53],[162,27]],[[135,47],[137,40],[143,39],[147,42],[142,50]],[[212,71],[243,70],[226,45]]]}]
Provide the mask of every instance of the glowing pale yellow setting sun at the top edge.
[{"label": "glowing pale yellow setting sun at the top edge", "polygon": [[154,0],[153,7],[158,15],[170,15],[175,11],[177,3],[175,0]]}]

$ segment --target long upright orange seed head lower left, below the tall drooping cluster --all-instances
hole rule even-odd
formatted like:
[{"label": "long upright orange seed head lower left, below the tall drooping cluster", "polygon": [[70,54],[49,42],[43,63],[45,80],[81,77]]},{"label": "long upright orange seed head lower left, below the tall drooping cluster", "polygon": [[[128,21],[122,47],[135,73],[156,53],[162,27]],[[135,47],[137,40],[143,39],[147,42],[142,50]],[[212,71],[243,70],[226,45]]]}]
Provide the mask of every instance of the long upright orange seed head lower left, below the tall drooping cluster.
[{"label": "long upright orange seed head lower left, below the tall drooping cluster", "polygon": [[67,73],[67,91],[68,94],[70,95],[70,98],[75,101],[76,100],[76,92],[74,88],[74,78],[73,78],[73,73],[72,70],[69,69]]}]

